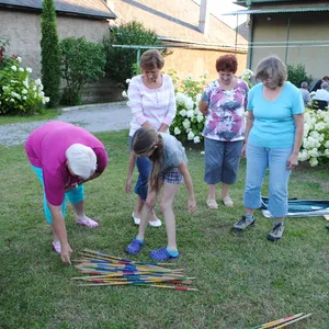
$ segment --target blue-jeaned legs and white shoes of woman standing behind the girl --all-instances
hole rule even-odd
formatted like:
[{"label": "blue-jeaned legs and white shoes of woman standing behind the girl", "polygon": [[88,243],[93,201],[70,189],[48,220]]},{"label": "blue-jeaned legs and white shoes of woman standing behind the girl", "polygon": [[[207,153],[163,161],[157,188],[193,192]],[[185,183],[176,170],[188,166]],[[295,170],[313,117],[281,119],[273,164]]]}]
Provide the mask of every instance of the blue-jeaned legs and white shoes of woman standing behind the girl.
[{"label": "blue-jeaned legs and white shoes of woman standing behind the girl", "polygon": [[[135,185],[135,193],[137,194],[137,200],[135,204],[135,209],[133,213],[133,218],[136,225],[140,222],[140,214],[147,197],[148,189],[148,178],[152,169],[151,161],[148,158],[137,158],[136,167],[138,170],[138,179]],[[157,222],[158,225],[155,227],[161,226],[161,222],[157,218],[155,211],[152,209],[149,222]],[[160,225],[159,225],[160,222]]]}]

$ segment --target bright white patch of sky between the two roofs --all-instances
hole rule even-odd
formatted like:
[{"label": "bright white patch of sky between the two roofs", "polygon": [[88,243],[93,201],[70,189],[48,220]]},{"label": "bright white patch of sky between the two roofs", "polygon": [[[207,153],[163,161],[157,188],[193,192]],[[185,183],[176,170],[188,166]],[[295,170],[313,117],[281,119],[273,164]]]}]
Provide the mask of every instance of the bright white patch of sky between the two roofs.
[{"label": "bright white patch of sky between the two roofs", "polygon": [[[194,0],[195,2],[200,3],[200,0]],[[240,7],[234,3],[235,0],[208,0],[208,5],[211,12],[216,15],[220,21],[229,25],[230,27],[235,29],[237,26],[237,16],[229,15],[225,16],[224,13],[236,11],[236,10],[246,10],[247,8]],[[239,15],[238,24],[242,24],[246,22],[247,15]]]}]

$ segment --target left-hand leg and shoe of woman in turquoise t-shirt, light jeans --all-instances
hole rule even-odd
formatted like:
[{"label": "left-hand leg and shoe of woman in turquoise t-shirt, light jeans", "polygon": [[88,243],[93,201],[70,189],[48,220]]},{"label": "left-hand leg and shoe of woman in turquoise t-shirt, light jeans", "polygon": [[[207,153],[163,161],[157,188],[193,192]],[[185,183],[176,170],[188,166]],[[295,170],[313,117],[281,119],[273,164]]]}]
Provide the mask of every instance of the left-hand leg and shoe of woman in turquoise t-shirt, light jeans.
[{"label": "left-hand leg and shoe of woman in turquoise t-shirt, light jeans", "polygon": [[263,147],[248,144],[247,172],[243,194],[245,215],[232,229],[242,231],[254,224],[253,212],[261,206],[261,186],[268,168],[268,150]]}]

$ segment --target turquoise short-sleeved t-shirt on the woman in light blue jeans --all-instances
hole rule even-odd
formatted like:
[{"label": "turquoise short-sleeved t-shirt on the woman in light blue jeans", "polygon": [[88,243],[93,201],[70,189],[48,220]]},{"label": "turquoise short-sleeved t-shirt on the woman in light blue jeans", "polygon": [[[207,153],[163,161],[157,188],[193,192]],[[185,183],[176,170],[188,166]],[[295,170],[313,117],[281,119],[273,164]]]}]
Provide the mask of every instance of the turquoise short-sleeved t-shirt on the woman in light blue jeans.
[{"label": "turquoise short-sleeved t-shirt on the woman in light blue jeans", "polygon": [[294,115],[305,111],[302,92],[291,82],[285,82],[274,101],[263,97],[263,83],[256,84],[248,95],[248,111],[253,112],[253,125],[249,141],[268,148],[294,146]]}]

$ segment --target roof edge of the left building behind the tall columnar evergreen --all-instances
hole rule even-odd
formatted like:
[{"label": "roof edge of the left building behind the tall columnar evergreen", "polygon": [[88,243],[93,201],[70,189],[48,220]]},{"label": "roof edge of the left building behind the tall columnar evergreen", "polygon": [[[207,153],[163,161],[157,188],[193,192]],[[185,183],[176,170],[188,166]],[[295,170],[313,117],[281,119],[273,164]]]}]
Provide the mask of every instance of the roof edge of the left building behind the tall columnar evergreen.
[{"label": "roof edge of the left building behind the tall columnar evergreen", "polygon": [[[41,11],[42,0],[0,0],[0,7],[30,9]],[[98,19],[115,19],[103,0],[54,0],[56,12],[92,16]]]}]

